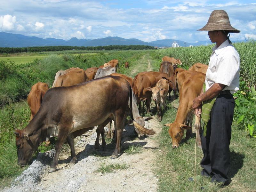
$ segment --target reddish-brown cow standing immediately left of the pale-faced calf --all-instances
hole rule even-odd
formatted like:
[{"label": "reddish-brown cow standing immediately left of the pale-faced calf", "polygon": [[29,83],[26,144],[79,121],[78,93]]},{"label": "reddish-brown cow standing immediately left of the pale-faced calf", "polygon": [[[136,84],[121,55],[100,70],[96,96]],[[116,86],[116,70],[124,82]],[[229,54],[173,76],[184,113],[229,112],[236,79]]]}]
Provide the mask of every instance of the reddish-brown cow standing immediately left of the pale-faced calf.
[{"label": "reddish-brown cow standing immediately left of the pale-faced calf", "polygon": [[[148,87],[154,87],[156,85],[156,78],[150,73],[138,74],[133,79],[134,84],[138,88],[138,97],[140,100],[145,100],[147,113],[150,112],[150,102],[152,97],[152,92],[148,91]],[[144,109],[144,106],[143,106]],[[141,102],[139,102],[139,110],[141,111]]]}]

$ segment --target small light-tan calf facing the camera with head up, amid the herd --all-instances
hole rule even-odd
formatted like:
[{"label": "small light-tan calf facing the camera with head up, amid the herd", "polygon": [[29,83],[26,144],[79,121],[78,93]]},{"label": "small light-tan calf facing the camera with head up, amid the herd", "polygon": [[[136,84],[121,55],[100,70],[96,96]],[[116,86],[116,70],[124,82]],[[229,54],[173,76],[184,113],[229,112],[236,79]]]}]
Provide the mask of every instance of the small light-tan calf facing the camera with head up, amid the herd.
[{"label": "small light-tan calf facing the camera with head up, amid the herd", "polygon": [[169,81],[167,79],[160,79],[156,86],[147,88],[148,91],[152,91],[153,100],[156,102],[157,117],[159,121],[162,121],[162,105],[164,105],[164,111],[166,110],[166,98],[169,90]]}]

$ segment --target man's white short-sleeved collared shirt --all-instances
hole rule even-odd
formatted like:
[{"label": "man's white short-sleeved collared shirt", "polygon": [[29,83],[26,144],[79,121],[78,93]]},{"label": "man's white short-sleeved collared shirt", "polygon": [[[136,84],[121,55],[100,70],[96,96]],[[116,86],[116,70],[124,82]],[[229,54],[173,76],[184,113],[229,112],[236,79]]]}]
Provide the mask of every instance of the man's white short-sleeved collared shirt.
[{"label": "man's white short-sleeved collared shirt", "polygon": [[212,48],[209,67],[205,76],[205,88],[208,90],[214,83],[227,85],[222,91],[230,90],[233,94],[239,90],[240,57],[228,39],[218,48]]}]

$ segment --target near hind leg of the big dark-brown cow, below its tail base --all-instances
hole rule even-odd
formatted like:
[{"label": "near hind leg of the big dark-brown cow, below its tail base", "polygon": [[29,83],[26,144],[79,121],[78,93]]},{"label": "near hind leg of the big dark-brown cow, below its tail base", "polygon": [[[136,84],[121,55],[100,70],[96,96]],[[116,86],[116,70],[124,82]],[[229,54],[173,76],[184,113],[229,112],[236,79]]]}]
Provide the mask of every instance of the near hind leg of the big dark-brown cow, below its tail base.
[{"label": "near hind leg of the big dark-brown cow, below its tail base", "polygon": [[121,149],[121,139],[122,139],[122,133],[124,130],[124,113],[125,110],[117,110],[116,111],[116,148],[114,152],[112,153],[111,159],[115,159],[118,157],[118,154],[120,153]]}]

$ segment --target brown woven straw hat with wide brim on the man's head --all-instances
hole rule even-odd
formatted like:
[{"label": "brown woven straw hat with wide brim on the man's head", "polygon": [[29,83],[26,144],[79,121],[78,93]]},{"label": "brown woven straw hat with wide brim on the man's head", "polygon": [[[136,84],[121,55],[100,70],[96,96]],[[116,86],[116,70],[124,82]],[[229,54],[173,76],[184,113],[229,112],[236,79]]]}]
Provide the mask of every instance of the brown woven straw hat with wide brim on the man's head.
[{"label": "brown woven straw hat with wide brim on the man's head", "polygon": [[228,18],[228,13],[224,10],[214,10],[207,22],[207,24],[197,31],[215,31],[215,30],[225,30],[229,33],[240,33],[239,30],[233,28],[230,25]]}]

